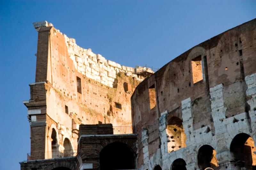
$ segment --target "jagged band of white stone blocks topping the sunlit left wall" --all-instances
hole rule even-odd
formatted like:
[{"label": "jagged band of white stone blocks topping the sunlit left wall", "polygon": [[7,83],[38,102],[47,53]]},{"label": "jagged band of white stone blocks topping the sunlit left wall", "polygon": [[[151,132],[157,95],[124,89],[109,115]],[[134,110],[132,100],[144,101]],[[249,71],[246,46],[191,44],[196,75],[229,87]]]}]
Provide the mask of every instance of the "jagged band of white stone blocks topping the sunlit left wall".
[{"label": "jagged band of white stone blocks topping the sunlit left wall", "polygon": [[[35,22],[34,27],[39,31],[42,27],[53,26],[47,21]],[[88,78],[96,80],[104,85],[113,87],[116,74],[121,72],[125,73],[126,76],[134,77],[138,81],[145,79],[144,76],[139,73],[142,71],[148,71],[153,73],[152,70],[145,67],[136,66],[136,68],[121,66],[118,63],[105,59],[100,54],[92,52],[91,48],[85,49],[79,47],[76,44],[74,38],[69,38],[66,34],[60,32],[60,30],[54,30],[54,35],[60,33],[65,38],[65,43],[68,48],[68,56],[72,59],[75,69],[85,75]]]}]

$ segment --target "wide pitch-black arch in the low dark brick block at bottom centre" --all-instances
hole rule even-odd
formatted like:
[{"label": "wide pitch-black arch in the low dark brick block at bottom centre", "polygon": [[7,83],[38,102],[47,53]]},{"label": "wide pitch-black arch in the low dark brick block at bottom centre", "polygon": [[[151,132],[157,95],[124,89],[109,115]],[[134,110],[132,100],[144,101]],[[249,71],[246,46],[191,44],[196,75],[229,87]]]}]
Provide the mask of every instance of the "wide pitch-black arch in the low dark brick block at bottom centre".
[{"label": "wide pitch-black arch in the low dark brick block at bottom centre", "polygon": [[134,152],[127,144],[113,142],[100,152],[100,170],[134,169],[134,160]]}]

